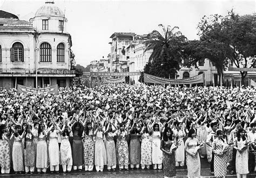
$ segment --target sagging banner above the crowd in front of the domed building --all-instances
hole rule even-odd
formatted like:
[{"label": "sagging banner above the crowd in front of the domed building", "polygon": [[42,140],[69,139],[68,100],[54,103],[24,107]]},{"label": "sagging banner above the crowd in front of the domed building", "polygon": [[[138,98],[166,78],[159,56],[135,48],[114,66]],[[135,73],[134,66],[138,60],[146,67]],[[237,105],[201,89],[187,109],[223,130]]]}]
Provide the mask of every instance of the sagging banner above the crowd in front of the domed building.
[{"label": "sagging banner above the crowd in front of the domed building", "polygon": [[25,93],[25,94],[38,94],[38,95],[44,95],[44,94],[57,94],[58,93],[58,85],[45,87],[45,88],[31,88],[31,87],[25,87],[21,86],[20,84],[17,85],[18,93]]}]

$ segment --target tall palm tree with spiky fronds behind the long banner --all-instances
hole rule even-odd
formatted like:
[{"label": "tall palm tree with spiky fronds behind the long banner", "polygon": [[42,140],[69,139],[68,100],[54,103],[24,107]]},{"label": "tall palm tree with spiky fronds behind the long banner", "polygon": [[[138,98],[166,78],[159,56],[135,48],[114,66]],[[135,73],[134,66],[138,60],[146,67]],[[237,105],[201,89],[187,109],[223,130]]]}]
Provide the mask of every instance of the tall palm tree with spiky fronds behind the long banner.
[{"label": "tall palm tree with spiky fronds behind the long banner", "polygon": [[[181,49],[183,42],[186,41],[186,37],[178,31],[179,27],[174,26],[173,28],[168,25],[165,28],[164,25],[158,25],[161,32],[153,30],[147,35],[148,40],[144,41],[146,45],[145,51],[153,49],[152,54],[149,58],[149,65],[151,64],[152,75],[168,77],[170,74],[172,78],[176,70],[178,70],[179,63],[181,61]],[[164,66],[159,72],[159,65]],[[145,73],[148,73],[145,71]]]}]

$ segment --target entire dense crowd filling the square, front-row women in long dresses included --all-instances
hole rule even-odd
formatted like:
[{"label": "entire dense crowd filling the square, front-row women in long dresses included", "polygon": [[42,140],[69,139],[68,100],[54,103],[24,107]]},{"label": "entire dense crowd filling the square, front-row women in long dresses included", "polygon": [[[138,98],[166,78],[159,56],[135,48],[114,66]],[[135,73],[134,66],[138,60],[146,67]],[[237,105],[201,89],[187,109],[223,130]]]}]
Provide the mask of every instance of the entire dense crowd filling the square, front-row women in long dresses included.
[{"label": "entire dense crowd filling the square, front-row women in long dresses included", "polygon": [[[187,167],[200,177],[254,171],[253,88],[104,84],[58,94],[0,90],[2,174]],[[254,126],[255,125],[255,126]],[[105,167],[104,167],[105,166]],[[161,174],[161,173],[159,173]]]}]

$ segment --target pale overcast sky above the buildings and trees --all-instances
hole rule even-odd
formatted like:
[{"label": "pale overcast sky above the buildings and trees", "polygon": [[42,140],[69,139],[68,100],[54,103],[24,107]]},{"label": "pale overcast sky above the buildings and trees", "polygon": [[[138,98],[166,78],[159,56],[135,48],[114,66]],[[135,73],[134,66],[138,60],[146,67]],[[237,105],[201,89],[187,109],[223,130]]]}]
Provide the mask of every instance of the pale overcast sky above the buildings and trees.
[{"label": "pale overcast sky above the buildings and trees", "polygon": [[[72,51],[76,63],[86,66],[110,53],[114,32],[148,34],[160,30],[158,24],[178,26],[189,39],[198,39],[197,25],[206,15],[226,15],[232,8],[239,15],[255,12],[256,1],[54,1],[65,11]],[[45,3],[44,0],[0,0],[0,9],[28,20]]]}]

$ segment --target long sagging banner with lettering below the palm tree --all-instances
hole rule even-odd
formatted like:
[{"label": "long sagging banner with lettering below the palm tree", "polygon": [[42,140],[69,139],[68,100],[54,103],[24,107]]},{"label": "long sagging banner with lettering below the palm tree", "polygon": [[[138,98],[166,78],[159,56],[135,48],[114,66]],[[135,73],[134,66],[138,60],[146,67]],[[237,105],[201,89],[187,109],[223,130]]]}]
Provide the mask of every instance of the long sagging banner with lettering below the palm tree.
[{"label": "long sagging banner with lettering below the palm tree", "polygon": [[193,76],[187,79],[165,79],[163,77],[157,77],[144,73],[145,83],[158,83],[158,84],[192,84],[192,83],[204,83],[204,74]]}]

